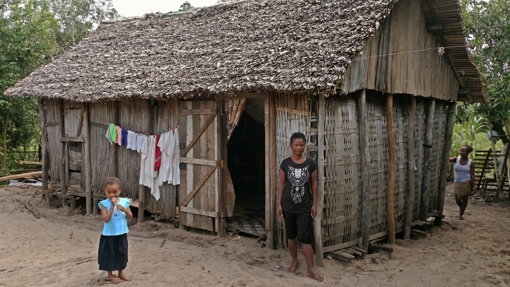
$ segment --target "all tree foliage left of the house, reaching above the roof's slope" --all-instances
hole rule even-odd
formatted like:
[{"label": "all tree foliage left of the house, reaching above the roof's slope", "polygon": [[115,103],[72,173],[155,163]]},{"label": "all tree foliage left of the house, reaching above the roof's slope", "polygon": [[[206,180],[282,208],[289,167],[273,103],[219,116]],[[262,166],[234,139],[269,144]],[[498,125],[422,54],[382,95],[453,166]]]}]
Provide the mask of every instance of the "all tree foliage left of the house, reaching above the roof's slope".
[{"label": "all tree foliage left of the house, reaching above the roof's slope", "polygon": [[7,98],[4,91],[87,37],[101,20],[118,16],[111,0],[0,1],[2,169],[15,160],[6,162],[8,154],[40,142],[37,99]]}]

